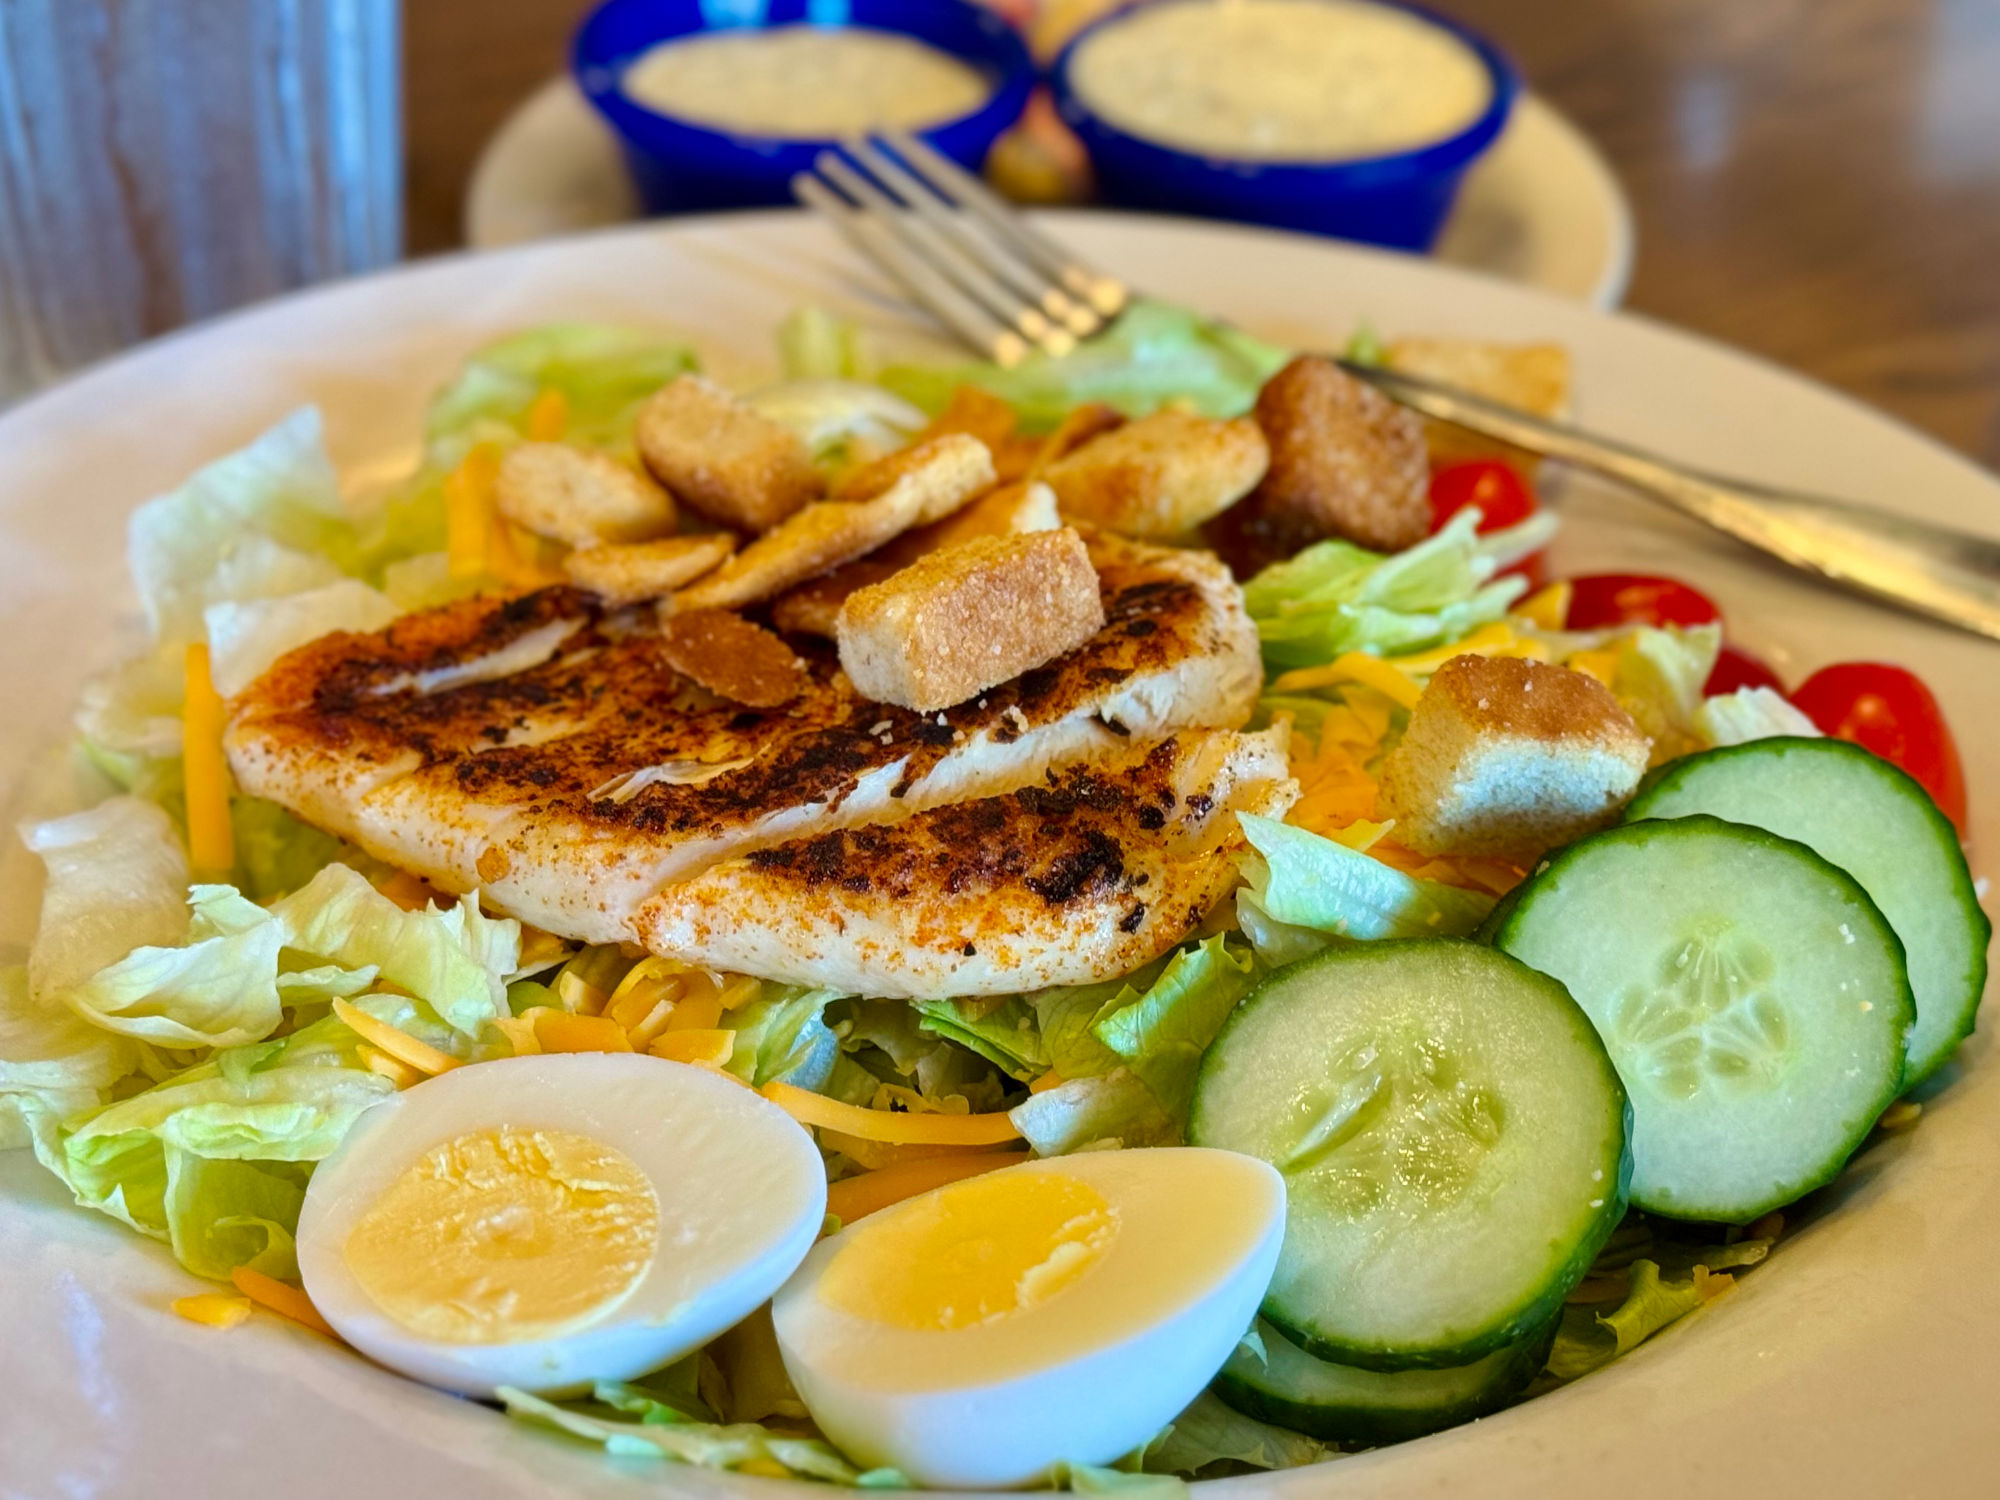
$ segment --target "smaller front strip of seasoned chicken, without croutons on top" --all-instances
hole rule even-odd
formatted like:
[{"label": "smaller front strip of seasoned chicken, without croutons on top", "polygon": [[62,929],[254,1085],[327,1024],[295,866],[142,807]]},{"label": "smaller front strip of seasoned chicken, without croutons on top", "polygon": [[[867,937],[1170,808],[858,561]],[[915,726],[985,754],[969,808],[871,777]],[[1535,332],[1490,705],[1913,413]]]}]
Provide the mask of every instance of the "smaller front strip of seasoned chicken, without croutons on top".
[{"label": "smaller front strip of seasoned chicken, without croutons on top", "polygon": [[760,848],[638,910],[656,954],[846,994],[1010,994],[1124,974],[1236,884],[1238,812],[1298,796],[1282,730],[1188,730],[896,824]]}]

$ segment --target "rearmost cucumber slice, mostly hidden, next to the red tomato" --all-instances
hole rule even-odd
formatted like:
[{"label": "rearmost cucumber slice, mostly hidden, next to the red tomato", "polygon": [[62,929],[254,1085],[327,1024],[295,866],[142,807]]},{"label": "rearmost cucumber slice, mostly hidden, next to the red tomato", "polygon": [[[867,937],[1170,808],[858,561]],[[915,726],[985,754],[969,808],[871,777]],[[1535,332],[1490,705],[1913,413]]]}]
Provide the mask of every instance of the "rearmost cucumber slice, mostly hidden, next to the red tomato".
[{"label": "rearmost cucumber slice, mostly hidden, next to the red tomato", "polygon": [[1904,1090],[1942,1068],[1972,1034],[1992,922],[1930,794],[1858,744],[1752,740],[1670,762],[1626,820],[1692,812],[1796,838],[1860,882],[1902,938],[1916,994]]}]

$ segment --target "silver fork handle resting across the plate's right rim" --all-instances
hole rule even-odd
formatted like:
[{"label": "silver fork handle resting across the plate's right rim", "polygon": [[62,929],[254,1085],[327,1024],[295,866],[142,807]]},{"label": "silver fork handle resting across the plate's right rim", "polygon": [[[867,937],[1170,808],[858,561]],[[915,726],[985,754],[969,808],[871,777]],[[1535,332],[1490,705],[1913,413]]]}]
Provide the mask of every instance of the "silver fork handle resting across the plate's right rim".
[{"label": "silver fork handle resting across the plate's right rim", "polygon": [[1350,360],[1340,366],[1414,412],[1602,474],[1794,568],[2000,640],[2000,542],[1846,500],[1700,474],[1434,380]]}]

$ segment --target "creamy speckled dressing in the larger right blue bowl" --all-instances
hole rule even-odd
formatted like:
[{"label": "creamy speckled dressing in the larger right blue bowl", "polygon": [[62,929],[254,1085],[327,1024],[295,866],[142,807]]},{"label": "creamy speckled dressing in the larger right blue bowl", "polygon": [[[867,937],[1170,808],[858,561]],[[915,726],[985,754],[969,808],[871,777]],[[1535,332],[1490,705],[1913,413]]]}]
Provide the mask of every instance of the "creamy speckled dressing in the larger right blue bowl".
[{"label": "creamy speckled dressing in the larger right blue bowl", "polygon": [[1180,0],[1090,36],[1078,98],[1130,136],[1204,156],[1330,162],[1458,134],[1492,102],[1478,52],[1366,0]]}]

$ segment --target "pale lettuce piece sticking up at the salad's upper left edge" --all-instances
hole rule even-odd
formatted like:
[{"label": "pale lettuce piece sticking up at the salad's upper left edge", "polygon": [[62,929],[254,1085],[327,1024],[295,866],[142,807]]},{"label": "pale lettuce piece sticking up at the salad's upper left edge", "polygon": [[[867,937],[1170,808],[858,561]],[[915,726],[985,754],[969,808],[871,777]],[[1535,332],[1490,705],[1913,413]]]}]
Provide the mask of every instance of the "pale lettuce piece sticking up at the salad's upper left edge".
[{"label": "pale lettuce piece sticking up at the salad's upper left edge", "polygon": [[336,582],[354,554],[318,410],[306,406],[136,512],[132,578],[158,642],[202,638],[222,600],[276,598]]}]

